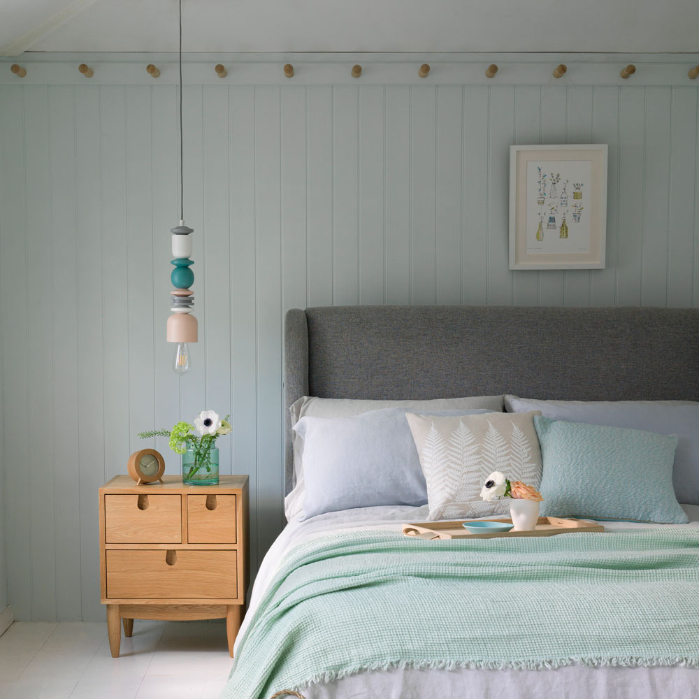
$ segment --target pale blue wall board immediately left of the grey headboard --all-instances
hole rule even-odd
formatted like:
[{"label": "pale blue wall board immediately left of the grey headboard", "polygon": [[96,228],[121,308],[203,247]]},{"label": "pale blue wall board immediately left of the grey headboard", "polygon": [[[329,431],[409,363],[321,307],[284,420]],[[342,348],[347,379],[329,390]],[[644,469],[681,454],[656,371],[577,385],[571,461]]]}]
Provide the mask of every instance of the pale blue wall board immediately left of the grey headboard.
[{"label": "pale blue wall board immediately left of the grey headboard", "polygon": [[255,88],[257,210],[257,526],[266,551],[282,528],[281,167],[278,87]]}]

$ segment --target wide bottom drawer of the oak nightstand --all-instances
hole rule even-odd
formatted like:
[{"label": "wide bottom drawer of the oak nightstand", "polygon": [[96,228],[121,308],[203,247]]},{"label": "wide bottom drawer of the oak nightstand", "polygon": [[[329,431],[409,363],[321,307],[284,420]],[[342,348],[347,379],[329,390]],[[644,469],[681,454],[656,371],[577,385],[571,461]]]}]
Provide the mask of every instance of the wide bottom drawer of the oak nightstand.
[{"label": "wide bottom drawer of the oak nightstand", "polygon": [[107,596],[112,599],[233,600],[238,554],[200,549],[108,549]]}]

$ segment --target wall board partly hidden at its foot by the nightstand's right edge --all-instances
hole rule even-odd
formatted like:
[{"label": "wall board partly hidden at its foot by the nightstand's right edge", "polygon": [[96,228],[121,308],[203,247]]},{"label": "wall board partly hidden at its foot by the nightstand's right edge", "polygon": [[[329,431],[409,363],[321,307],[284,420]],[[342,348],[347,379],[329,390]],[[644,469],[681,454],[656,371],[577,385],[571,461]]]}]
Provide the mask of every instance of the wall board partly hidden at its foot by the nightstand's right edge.
[{"label": "wall board partly hidden at its foot by the nightstand's right edge", "polygon": [[250,476],[250,556],[257,570],[257,332],[255,105],[253,87],[229,89],[233,473]]}]

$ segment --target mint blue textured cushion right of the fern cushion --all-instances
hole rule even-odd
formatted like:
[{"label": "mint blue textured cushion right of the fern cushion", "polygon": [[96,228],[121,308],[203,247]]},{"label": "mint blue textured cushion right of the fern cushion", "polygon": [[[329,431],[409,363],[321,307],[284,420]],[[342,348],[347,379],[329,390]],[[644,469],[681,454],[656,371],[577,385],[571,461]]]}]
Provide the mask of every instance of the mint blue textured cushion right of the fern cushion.
[{"label": "mint blue textured cushion right of the fern cushion", "polygon": [[542,517],[684,524],[672,488],[677,437],[535,415]]}]

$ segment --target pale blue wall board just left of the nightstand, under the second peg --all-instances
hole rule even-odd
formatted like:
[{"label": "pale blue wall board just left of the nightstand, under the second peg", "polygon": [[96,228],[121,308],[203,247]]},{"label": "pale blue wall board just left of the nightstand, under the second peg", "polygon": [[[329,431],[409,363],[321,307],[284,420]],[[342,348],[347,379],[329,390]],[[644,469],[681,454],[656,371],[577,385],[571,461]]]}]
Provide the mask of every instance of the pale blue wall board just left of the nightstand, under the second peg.
[{"label": "pale blue wall board just left of the nightstand, under the second peg", "polygon": [[[78,440],[80,445],[80,589],[82,618],[103,619],[99,603],[99,537],[95,493],[105,481],[100,94],[75,87],[78,242]],[[122,439],[127,435],[122,433]]]}]

